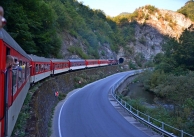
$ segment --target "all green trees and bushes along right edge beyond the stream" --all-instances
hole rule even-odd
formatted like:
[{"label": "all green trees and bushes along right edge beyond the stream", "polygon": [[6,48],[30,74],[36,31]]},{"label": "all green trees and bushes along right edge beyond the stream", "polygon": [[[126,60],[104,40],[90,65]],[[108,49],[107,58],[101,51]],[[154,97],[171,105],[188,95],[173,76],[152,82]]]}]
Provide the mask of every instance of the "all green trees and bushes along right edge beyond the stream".
[{"label": "all green trees and bushes along right edge beyond the stream", "polygon": [[[164,53],[154,58],[155,70],[141,75],[146,90],[173,104],[167,112],[173,119],[163,121],[194,135],[194,26],[185,30],[179,42],[170,39]],[[169,117],[168,117],[169,118]]]}]

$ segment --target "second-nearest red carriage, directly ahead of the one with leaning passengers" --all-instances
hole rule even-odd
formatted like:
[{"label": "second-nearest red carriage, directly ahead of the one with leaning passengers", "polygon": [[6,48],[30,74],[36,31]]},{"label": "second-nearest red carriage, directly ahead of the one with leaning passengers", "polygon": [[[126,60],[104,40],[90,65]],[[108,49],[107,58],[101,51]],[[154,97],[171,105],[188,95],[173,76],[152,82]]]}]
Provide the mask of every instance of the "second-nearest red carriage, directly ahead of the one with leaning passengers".
[{"label": "second-nearest red carriage, directly ahead of the one with leaning passengers", "polygon": [[36,83],[52,74],[51,61],[45,57],[29,55],[31,58],[31,83]]}]

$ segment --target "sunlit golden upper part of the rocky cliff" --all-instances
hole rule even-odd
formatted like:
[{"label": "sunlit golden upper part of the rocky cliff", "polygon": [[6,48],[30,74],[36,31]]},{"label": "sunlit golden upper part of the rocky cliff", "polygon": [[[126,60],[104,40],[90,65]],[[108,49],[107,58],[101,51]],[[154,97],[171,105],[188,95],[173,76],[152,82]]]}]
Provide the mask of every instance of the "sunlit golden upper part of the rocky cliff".
[{"label": "sunlit golden upper part of the rocky cliff", "polygon": [[174,11],[158,9],[150,14],[148,9],[143,8],[142,10],[149,16],[146,24],[156,28],[161,34],[170,37],[179,38],[183,30],[192,24],[190,19]]}]

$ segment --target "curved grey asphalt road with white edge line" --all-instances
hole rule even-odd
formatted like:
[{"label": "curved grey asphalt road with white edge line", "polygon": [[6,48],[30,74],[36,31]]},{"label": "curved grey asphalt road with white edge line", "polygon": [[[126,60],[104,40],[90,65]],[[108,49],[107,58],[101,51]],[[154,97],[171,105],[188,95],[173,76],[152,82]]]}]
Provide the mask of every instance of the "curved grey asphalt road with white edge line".
[{"label": "curved grey asphalt road with white edge line", "polygon": [[127,122],[108,99],[114,83],[129,73],[133,72],[109,76],[74,92],[61,104],[57,118],[54,117],[54,136],[148,137]]}]

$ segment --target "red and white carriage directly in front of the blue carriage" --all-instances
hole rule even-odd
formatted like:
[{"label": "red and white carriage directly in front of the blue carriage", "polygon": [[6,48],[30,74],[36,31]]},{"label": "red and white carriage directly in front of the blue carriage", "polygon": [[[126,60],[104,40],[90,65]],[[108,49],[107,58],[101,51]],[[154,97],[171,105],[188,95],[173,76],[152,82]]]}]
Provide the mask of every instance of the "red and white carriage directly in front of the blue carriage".
[{"label": "red and white carriage directly in front of the blue carriage", "polygon": [[69,71],[69,60],[51,59],[52,74],[58,74]]}]

